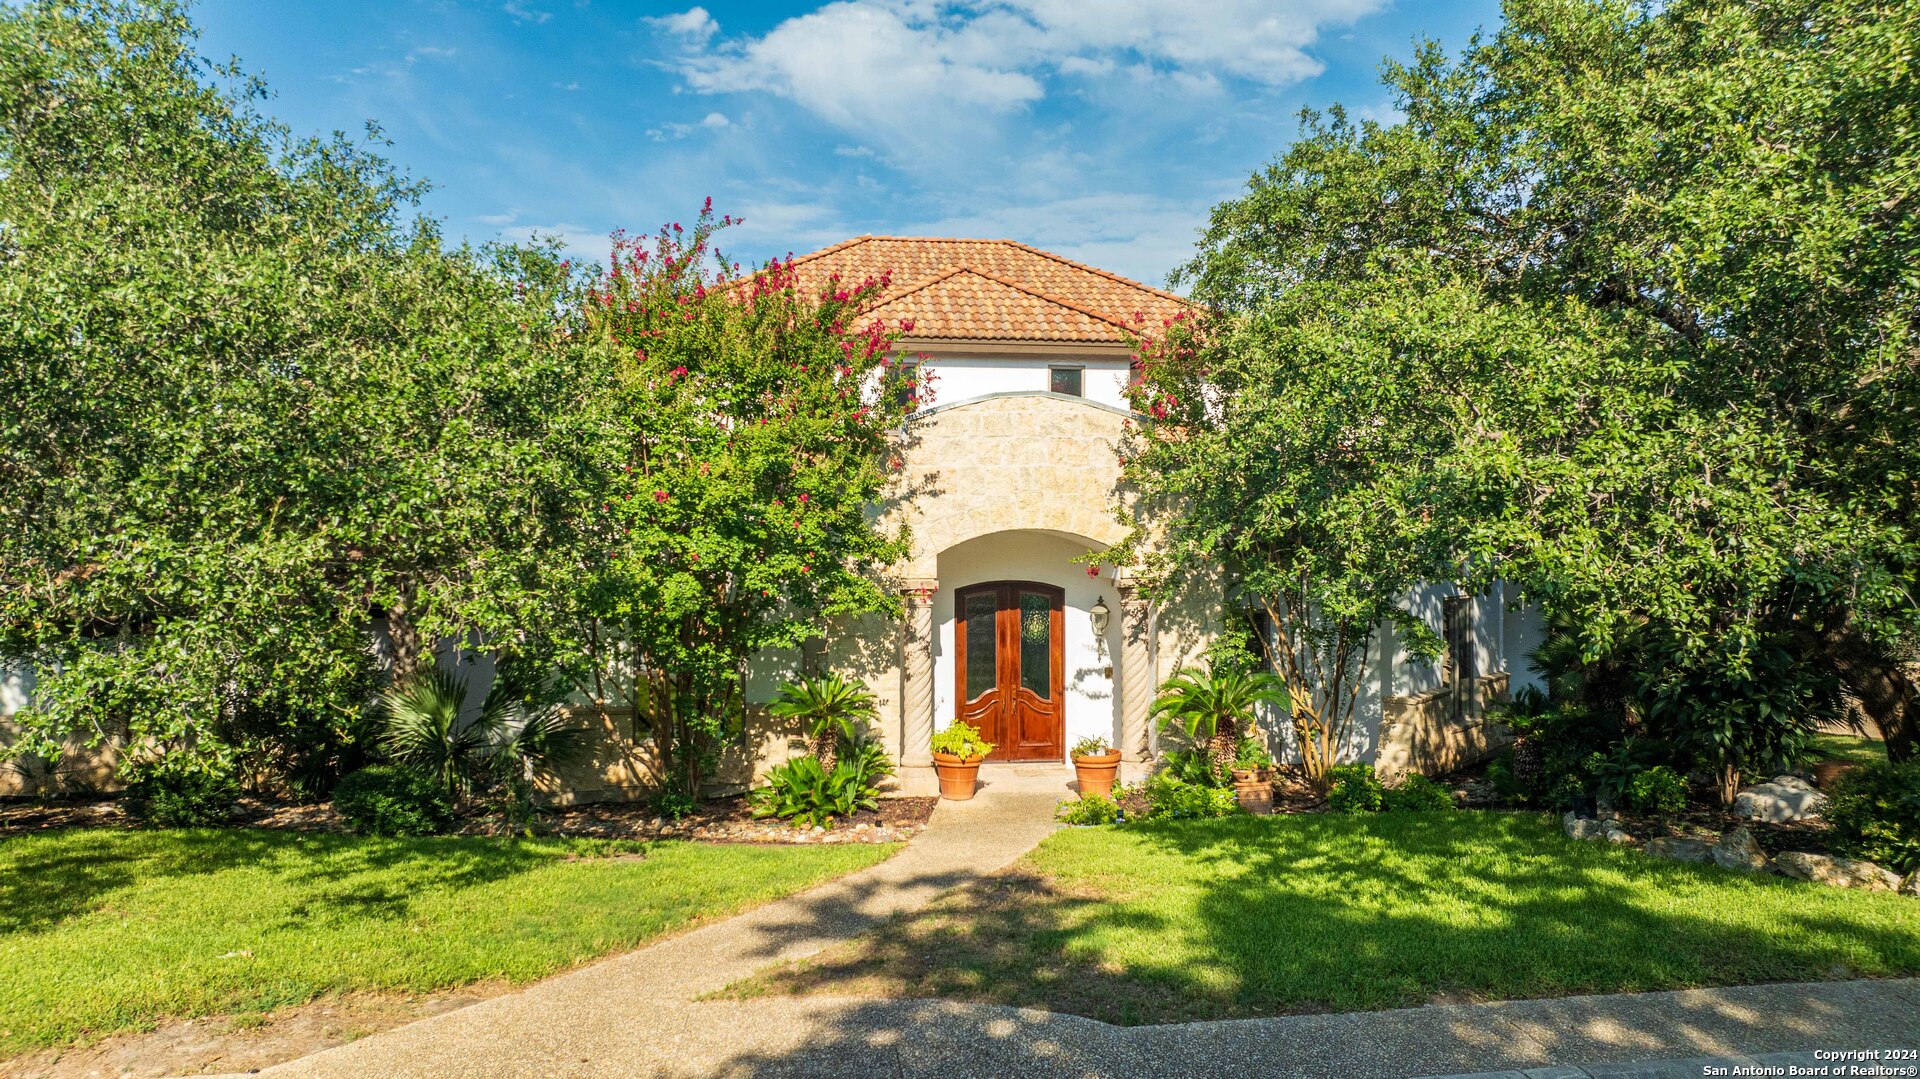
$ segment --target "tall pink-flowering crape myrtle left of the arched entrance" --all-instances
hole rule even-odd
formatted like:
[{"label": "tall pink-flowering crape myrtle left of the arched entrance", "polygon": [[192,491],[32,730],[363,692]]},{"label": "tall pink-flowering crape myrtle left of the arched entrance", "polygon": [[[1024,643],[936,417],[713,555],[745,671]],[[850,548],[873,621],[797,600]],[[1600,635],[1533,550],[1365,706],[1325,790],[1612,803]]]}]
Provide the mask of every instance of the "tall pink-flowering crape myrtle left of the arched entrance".
[{"label": "tall pink-flowering crape myrtle left of the arched entrance", "polygon": [[557,568],[570,622],[551,639],[588,697],[632,710],[676,799],[741,733],[751,657],[897,612],[881,574],[906,532],[876,507],[929,399],[902,326],[860,317],[883,278],[814,292],[791,259],[741,273],[712,246],[733,223],[708,200],[691,228],[616,236],[582,309],[614,457],[580,563]]}]

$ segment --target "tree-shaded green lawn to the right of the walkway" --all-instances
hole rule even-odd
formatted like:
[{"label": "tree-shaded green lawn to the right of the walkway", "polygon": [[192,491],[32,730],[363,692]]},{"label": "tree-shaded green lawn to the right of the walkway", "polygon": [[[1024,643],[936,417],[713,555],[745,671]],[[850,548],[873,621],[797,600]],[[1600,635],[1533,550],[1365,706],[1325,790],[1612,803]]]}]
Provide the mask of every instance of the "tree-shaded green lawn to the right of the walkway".
[{"label": "tree-shaded green lawn to the right of the walkway", "polygon": [[1008,875],[730,989],[1164,1023],[1920,973],[1920,902],[1574,843],[1538,814],[1060,831]]}]

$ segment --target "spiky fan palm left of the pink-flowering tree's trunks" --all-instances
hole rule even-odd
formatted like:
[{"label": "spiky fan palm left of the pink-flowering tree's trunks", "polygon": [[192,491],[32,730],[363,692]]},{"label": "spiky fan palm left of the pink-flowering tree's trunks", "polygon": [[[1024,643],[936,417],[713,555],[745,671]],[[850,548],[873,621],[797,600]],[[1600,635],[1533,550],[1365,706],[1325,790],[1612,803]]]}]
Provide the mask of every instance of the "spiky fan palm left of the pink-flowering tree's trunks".
[{"label": "spiky fan palm left of the pink-flowering tree's trunks", "polygon": [[382,695],[386,749],[461,799],[495,781],[532,787],[534,772],[574,760],[586,731],[566,722],[559,693],[503,666],[468,708],[467,680],[432,668]]}]

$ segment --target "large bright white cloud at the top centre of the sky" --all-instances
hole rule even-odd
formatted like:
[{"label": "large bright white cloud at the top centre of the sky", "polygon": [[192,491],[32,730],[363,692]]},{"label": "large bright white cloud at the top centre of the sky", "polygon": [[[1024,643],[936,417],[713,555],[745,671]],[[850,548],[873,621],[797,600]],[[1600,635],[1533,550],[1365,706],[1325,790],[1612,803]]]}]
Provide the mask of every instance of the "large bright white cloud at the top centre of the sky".
[{"label": "large bright white cloud at the top centre of the sky", "polygon": [[908,142],[991,121],[1046,96],[1058,75],[1148,77],[1177,94],[1225,81],[1284,86],[1319,75],[1323,29],[1386,0],[837,0],[760,36],[726,38],[703,8],[651,19],[701,94],[768,92],[822,119]]}]

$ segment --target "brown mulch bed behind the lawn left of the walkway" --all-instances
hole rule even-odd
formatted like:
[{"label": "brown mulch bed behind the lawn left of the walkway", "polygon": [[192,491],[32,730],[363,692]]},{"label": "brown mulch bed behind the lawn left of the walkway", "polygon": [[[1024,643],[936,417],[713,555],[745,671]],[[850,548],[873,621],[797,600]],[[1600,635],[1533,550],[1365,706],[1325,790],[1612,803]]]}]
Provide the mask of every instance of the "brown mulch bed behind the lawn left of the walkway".
[{"label": "brown mulch bed behind the lawn left of the walkway", "polygon": [[[534,831],[589,839],[699,839],[705,843],[900,843],[912,839],[933,816],[939,799],[879,799],[877,810],[837,822],[831,829],[801,829],[781,820],[755,820],[743,795],[703,803],[682,820],[666,820],[636,803],[551,806]],[[0,801],[0,839],[60,827],[138,827],[115,799]],[[288,831],[348,831],[330,804],[282,804],[242,799],[234,826]],[[478,816],[461,826],[463,835],[493,835],[497,822]]]}]

